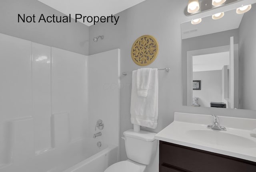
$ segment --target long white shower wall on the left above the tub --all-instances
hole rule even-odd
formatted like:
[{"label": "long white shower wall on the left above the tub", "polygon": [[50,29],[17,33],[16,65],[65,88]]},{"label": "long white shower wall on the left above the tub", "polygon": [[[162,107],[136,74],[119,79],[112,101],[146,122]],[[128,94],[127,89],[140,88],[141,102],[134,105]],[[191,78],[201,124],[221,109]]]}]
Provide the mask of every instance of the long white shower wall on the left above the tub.
[{"label": "long white shower wall on the left above the tub", "polygon": [[[0,171],[88,136],[87,56],[0,34]],[[22,171],[22,169],[21,169]]]}]

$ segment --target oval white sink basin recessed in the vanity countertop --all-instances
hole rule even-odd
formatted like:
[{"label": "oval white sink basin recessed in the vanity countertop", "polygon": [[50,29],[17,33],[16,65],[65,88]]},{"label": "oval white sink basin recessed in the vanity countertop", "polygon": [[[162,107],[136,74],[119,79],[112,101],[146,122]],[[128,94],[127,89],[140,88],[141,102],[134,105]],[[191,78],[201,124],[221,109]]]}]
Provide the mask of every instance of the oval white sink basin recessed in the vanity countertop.
[{"label": "oval white sink basin recessed in the vanity countertop", "polygon": [[188,135],[188,137],[192,137],[193,139],[212,145],[243,148],[256,147],[256,142],[247,139],[246,137],[225,132],[226,131],[219,130],[188,130],[186,131],[186,135]]}]

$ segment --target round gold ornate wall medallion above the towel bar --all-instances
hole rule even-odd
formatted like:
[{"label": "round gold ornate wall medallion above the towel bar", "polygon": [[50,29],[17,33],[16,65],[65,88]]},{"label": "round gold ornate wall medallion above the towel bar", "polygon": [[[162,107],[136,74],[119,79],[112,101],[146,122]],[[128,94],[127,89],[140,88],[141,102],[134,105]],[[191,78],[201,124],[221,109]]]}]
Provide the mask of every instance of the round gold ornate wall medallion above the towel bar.
[{"label": "round gold ornate wall medallion above the towel bar", "polygon": [[158,42],[151,35],[139,37],[132,45],[132,60],[140,66],[151,64],[158,55]]}]

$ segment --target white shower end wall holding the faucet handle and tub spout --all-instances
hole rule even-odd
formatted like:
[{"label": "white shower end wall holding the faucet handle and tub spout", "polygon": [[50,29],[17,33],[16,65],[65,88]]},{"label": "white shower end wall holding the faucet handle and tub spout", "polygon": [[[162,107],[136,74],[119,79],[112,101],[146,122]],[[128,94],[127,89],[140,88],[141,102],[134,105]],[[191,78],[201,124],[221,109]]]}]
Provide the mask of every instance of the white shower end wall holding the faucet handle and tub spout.
[{"label": "white shower end wall holding the faucet handle and tub spout", "polygon": [[[96,138],[111,145],[119,145],[120,116],[120,49],[90,55],[89,72],[89,121],[90,136],[102,132]],[[104,129],[95,125],[98,119],[104,122]]]}]

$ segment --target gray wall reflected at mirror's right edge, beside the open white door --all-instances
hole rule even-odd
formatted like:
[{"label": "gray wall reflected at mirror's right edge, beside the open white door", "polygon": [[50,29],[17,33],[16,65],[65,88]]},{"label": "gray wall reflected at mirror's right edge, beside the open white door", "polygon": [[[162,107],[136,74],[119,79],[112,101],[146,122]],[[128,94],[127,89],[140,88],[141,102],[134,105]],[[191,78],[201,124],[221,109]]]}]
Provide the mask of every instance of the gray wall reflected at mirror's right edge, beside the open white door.
[{"label": "gray wall reflected at mirror's right edge, beside the open white door", "polygon": [[239,27],[240,108],[256,109],[256,4]]}]

